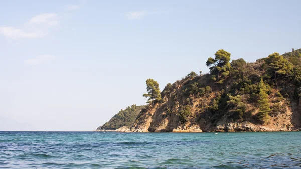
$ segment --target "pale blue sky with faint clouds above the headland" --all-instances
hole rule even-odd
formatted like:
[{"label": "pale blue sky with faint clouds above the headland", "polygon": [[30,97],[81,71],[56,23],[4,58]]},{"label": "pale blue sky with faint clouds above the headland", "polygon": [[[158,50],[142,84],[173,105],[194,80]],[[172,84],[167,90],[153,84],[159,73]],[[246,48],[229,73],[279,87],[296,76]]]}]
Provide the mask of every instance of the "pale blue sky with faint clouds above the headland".
[{"label": "pale blue sky with faint clouds above the headland", "polygon": [[92,131],[160,89],[301,48],[301,1],[0,1],[0,131]]}]

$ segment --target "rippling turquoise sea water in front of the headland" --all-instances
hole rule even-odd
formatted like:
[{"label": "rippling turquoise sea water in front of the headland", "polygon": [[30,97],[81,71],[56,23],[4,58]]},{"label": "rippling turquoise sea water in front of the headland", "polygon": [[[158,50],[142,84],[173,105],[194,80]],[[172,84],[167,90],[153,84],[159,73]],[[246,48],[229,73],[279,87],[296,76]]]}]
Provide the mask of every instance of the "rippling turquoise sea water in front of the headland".
[{"label": "rippling turquoise sea water in front of the headland", "polygon": [[301,132],[0,132],[0,168],[300,168]]}]

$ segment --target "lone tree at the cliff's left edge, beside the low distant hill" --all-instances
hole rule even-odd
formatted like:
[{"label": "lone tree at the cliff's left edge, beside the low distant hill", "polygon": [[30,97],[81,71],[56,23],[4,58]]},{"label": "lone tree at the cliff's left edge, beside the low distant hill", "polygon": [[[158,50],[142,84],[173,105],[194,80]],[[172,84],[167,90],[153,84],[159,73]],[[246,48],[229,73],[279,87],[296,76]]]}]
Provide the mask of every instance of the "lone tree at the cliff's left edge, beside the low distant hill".
[{"label": "lone tree at the cliff's left edge, beside the low distant hill", "polygon": [[154,79],[147,79],[146,86],[147,94],[143,94],[143,97],[148,98],[146,103],[153,103],[155,107],[154,101],[160,101],[162,99],[159,84]]}]

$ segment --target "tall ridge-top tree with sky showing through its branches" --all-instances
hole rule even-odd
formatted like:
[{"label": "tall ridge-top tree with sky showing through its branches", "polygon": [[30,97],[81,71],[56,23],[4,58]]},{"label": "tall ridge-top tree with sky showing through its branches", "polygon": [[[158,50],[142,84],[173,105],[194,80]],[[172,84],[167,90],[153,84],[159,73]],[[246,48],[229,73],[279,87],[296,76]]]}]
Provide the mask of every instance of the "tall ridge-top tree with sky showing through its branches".
[{"label": "tall ridge-top tree with sky showing through its branches", "polygon": [[211,78],[218,83],[223,83],[225,78],[229,75],[230,69],[230,53],[223,49],[218,50],[215,54],[215,58],[208,58],[206,65],[211,66],[210,73]]}]

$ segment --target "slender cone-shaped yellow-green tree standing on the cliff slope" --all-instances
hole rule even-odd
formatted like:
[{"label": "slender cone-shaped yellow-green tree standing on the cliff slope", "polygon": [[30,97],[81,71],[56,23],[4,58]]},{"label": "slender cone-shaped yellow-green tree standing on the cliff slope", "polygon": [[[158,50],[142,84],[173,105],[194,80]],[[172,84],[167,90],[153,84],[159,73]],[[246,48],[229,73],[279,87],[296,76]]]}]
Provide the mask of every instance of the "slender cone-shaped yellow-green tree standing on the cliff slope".
[{"label": "slender cone-shaped yellow-green tree standing on the cliff slope", "polygon": [[267,89],[262,79],[259,83],[259,88],[260,88],[259,99],[258,99],[259,112],[257,114],[257,117],[259,120],[266,122],[268,120],[268,113],[271,112],[271,109],[269,108],[268,95],[266,93]]}]

